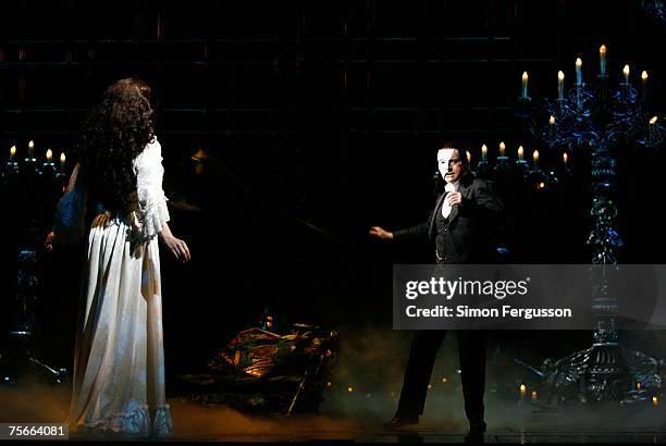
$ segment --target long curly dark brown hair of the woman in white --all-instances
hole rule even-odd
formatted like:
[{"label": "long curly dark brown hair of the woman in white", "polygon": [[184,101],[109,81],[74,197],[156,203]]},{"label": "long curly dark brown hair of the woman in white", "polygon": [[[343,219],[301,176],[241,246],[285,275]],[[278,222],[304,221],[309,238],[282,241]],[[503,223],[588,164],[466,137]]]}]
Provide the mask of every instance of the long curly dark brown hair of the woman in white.
[{"label": "long curly dark brown hair of the woman in white", "polygon": [[150,87],[139,79],[111,85],[88,114],[74,156],[90,198],[124,216],[136,206],[133,161],[155,138]]}]

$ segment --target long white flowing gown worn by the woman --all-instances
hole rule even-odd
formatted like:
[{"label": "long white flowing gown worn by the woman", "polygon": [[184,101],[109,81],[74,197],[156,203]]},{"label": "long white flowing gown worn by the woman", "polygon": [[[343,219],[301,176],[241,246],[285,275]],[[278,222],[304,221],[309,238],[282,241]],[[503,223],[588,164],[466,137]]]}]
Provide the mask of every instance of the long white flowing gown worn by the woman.
[{"label": "long white flowing gown worn by the woman", "polygon": [[[169,436],[158,233],[169,221],[157,139],[134,160],[139,211],[94,220],[78,317],[74,432]],[[82,301],[82,303],[84,303]]]}]

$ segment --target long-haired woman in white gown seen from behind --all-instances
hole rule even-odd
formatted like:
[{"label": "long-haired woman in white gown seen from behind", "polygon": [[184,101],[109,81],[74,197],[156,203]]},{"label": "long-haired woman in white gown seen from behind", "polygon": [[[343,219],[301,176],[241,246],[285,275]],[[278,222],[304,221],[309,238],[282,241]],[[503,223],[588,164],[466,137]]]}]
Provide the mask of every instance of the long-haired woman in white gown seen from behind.
[{"label": "long-haired woman in white gown seen from behind", "polygon": [[55,241],[72,241],[89,227],[69,417],[73,432],[173,433],[164,395],[158,238],[178,260],[188,261],[189,250],[166,223],[149,91],[137,79],[107,89],[84,125],[77,164],[58,203]]}]

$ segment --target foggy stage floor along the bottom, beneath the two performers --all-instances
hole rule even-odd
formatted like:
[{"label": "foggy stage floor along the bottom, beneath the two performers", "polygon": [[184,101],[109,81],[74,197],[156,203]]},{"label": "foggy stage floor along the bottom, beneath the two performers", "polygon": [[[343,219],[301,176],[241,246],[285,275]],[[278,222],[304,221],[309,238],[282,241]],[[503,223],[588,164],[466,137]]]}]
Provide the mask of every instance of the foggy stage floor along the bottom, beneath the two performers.
[{"label": "foggy stage floor along the bottom, beneath the two performers", "polygon": [[[402,430],[383,426],[395,408],[390,396],[345,398],[331,393],[320,413],[292,417],[247,414],[184,398],[169,402],[175,432],[171,442],[462,443],[467,433],[461,401],[436,394],[427,402],[421,423]],[[0,386],[0,422],[62,422],[67,405],[66,386]],[[555,413],[486,397],[486,413],[485,443],[666,443],[662,408]]]}]

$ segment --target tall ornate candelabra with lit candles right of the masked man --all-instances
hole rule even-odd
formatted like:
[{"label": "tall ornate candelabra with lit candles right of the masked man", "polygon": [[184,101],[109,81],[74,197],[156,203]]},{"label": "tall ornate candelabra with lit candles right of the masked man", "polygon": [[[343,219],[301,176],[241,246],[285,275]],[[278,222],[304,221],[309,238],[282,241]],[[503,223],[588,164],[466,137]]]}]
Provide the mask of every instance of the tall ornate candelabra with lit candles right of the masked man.
[{"label": "tall ornate candelabra with lit candles right of the masked man", "polygon": [[531,370],[543,379],[548,398],[558,402],[654,402],[662,392],[659,368],[663,361],[621,346],[618,299],[609,286],[607,273],[619,268],[617,255],[622,247],[617,231],[618,153],[622,149],[656,150],[663,146],[666,132],[658,116],[649,113],[648,73],[642,72],[641,87],[637,89],[630,82],[630,67],[625,65],[624,80],[618,87],[612,87],[606,73],[605,46],[600,48],[600,65],[601,72],[591,86],[582,80],[582,62],[578,59],[575,86],[565,90],[565,76],[559,72],[557,99],[545,99],[541,103],[528,96],[528,75],[523,73],[522,95],[516,112],[531,135],[550,150],[566,153],[587,149],[591,156],[590,216],[593,223],[587,245],[592,249],[594,264],[590,275],[596,315],[590,348],[559,360],[546,359],[541,371]]}]

